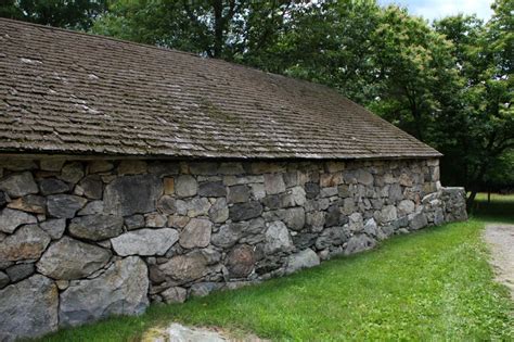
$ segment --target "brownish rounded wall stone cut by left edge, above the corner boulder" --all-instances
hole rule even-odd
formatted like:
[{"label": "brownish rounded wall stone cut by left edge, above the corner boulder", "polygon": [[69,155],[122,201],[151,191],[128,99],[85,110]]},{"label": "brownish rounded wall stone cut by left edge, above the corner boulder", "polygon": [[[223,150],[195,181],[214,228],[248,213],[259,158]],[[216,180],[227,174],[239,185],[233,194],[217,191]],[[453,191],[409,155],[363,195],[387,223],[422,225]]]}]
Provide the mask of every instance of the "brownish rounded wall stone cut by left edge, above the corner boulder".
[{"label": "brownish rounded wall stone cut by left edge, above the corner boulder", "polygon": [[26,225],[0,242],[0,263],[37,259],[50,243],[50,237],[37,225]]}]

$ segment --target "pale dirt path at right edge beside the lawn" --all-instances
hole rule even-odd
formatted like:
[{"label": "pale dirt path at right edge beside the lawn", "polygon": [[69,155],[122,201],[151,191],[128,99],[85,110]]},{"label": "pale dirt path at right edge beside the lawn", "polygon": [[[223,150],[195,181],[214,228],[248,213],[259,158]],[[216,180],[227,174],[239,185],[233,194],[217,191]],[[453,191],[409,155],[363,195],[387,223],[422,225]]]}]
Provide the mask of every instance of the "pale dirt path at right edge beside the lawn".
[{"label": "pale dirt path at right edge beside the lawn", "polygon": [[511,290],[514,300],[514,225],[487,225],[484,237],[491,245],[497,280]]}]

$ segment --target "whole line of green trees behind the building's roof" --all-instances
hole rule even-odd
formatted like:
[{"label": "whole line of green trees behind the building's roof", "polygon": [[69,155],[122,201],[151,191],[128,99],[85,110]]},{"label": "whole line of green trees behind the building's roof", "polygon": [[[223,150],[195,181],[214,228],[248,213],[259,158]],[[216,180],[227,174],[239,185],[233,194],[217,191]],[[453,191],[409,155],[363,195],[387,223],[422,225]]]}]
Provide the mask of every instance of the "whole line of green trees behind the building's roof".
[{"label": "whole line of green trees behind the building's roof", "polygon": [[514,1],[492,9],[429,24],[374,0],[3,0],[0,16],[324,84],[442,152],[473,201],[514,186]]}]

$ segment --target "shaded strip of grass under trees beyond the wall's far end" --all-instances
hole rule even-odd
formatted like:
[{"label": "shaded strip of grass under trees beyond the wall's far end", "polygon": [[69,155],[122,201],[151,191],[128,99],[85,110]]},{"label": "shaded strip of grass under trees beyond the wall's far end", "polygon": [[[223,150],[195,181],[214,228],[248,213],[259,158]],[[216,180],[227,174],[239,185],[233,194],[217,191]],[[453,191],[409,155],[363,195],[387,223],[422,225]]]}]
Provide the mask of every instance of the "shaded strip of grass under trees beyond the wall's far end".
[{"label": "shaded strip of grass under trees beyond the wall's far end", "polygon": [[472,216],[487,221],[514,224],[514,194],[491,193],[491,202],[488,202],[487,193],[477,193]]}]

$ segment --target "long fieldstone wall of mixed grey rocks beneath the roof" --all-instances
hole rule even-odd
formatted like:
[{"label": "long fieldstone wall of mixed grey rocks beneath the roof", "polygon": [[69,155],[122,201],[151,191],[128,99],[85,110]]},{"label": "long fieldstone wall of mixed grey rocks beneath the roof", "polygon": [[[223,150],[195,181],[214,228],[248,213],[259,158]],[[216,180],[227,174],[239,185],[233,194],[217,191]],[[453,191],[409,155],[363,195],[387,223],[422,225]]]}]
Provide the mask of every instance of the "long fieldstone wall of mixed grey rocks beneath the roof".
[{"label": "long fieldstone wall of mixed grey rocks beneath the roof", "polygon": [[466,218],[437,160],[3,160],[0,340],[291,274]]}]

